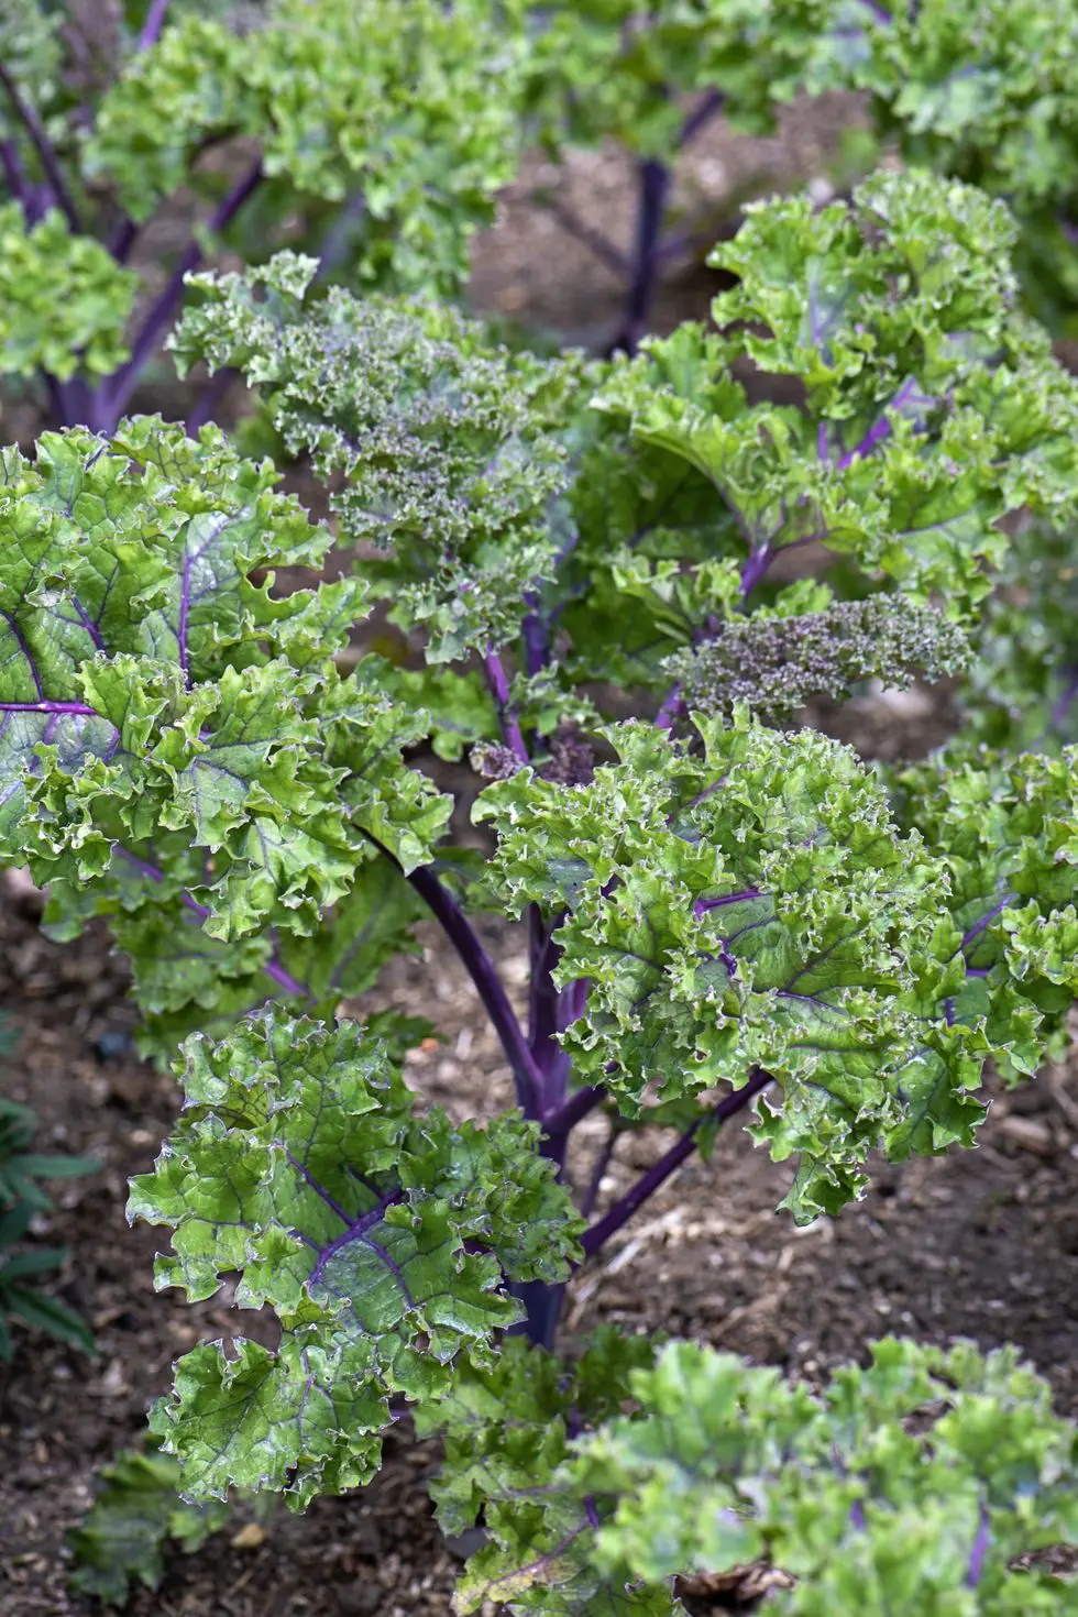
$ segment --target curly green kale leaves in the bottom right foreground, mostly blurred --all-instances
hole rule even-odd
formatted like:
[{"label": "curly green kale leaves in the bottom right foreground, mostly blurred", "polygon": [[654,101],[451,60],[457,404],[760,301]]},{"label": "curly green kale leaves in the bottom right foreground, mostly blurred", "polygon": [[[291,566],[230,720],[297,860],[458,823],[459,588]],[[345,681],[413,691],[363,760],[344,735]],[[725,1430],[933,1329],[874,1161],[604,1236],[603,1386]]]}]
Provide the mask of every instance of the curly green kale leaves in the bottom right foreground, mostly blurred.
[{"label": "curly green kale leaves in the bottom right foreground, mostly blurred", "polygon": [[674,1617],[677,1575],[755,1560],[800,1617],[1076,1609],[1036,1560],[1078,1536],[1075,1428],[1012,1349],[889,1337],[810,1392],[606,1328],[571,1362],[506,1344],[422,1429],[444,1439],[444,1530],[488,1528],[461,1612]]}]

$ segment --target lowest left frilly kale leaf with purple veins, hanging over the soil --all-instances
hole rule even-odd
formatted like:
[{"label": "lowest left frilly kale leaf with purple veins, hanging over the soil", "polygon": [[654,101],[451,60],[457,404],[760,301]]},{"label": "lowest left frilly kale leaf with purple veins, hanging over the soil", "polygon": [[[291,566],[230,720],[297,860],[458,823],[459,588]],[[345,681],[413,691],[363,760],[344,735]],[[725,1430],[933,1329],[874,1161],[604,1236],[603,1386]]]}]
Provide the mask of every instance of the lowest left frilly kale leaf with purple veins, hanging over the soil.
[{"label": "lowest left frilly kale leaf with purple veins, hanging over the soil", "polygon": [[380,1030],[265,1012],[184,1056],[183,1122],[129,1218],[173,1226],[158,1287],[194,1302],[236,1274],[238,1307],[272,1308],[281,1336],[186,1353],[150,1428],[184,1492],[302,1509],[373,1476],[393,1395],[423,1404],[462,1355],[493,1363],[522,1316],[506,1282],[562,1281],[582,1221],[537,1124],[415,1116]]}]

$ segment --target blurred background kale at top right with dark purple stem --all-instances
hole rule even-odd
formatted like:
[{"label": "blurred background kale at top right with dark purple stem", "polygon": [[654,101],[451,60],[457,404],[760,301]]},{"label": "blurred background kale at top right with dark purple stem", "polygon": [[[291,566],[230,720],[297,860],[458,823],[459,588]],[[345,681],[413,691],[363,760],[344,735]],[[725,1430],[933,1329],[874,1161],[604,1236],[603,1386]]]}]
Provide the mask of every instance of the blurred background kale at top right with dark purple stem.
[{"label": "blurred background kale at top right with dark purple stem", "polygon": [[624,286],[614,348],[635,351],[664,265],[700,244],[693,223],[672,217],[680,155],[716,116],[766,134],[781,107],[826,91],[866,100],[836,179],[860,167],[858,149],[897,149],[1004,197],[1021,226],[1013,255],[1030,307],[1054,331],[1078,330],[1073,0],[556,0],[530,18],[527,128],[553,157],[613,139],[635,163],[629,251],[546,196]]}]

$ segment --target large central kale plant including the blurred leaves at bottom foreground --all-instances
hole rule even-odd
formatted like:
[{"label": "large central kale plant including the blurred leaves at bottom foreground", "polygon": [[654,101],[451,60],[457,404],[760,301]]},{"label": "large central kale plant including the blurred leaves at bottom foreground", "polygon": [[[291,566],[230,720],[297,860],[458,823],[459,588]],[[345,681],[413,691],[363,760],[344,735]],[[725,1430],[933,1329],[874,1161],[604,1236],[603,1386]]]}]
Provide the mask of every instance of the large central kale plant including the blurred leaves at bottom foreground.
[{"label": "large central kale plant including the blurred leaves at bottom foreground", "polygon": [[[275,569],[322,568],[330,532],[217,429],[3,453],[0,854],[53,936],[107,918],[181,1077],[129,1203],[173,1232],[158,1284],[234,1277],[280,1324],[196,1347],[155,1405],[191,1499],[302,1509],[411,1415],[444,1438],[446,1530],[486,1533],[462,1612],[669,1617],[676,1573],[756,1556],[798,1614],[1078,1609],[1038,1560],[1078,1536],[1078,1433],[1013,1353],[886,1340],[810,1394],[559,1337],[579,1266],[735,1119],[810,1224],[871,1153],[973,1145],[986,1066],[1020,1082],[1067,1040],[1078,755],[882,773],[797,711],[960,666],[1018,514],[1075,519],[1078,383],[1018,307],[1013,236],[924,173],[761,205],[716,255],[714,328],[609,364],[294,254],[197,277],[181,365],[259,388],[354,558],[310,589]],[[743,357],[802,403],[750,404]],[[375,602],[423,668],[347,645]],[[427,742],[488,778],[490,857],[449,841]],[[524,922],[527,1022],[483,915]],[[417,1103],[427,1024],[362,1014],[423,917],[509,1111]],[[574,1184],[590,1114],[611,1143]],[[642,1127],[672,1143],[596,1208]]]}]

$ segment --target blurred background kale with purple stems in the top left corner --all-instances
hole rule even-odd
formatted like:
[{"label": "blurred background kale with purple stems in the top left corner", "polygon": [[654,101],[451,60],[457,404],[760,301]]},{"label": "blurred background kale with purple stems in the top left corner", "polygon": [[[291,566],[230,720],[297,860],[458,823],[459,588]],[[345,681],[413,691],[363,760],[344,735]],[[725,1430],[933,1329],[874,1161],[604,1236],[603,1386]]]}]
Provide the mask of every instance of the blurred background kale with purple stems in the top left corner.
[{"label": "blurred background kale with purple stems in the top left corner", "polygon": [[0,375],[53,425],[115,430],[210,251],[314,244],[325,277],[456,291],[516,167],[517,0],[95,10],[0,0]]}]

